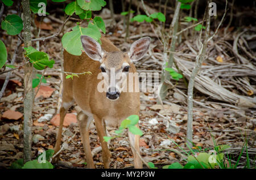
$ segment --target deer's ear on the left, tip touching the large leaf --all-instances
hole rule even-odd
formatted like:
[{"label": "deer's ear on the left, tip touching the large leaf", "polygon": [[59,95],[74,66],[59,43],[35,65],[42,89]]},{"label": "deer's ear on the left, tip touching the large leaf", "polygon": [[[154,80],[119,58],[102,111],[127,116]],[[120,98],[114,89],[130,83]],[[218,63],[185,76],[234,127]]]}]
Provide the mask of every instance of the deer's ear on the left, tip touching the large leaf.
[{"label": "deer's ear on the left, tip touching the large leaf", "polygon": [[101,61],[104,51],[101,49],[101,45],[97,41],[89,36],[81,36],[81,42],[85,53],[91,59]]}]

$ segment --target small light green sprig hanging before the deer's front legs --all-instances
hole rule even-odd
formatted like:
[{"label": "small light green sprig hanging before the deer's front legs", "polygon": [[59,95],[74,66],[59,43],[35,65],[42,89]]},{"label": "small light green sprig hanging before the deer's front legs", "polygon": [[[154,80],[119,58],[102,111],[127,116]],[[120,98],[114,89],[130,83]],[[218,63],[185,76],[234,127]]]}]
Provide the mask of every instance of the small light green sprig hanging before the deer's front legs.
[{"label": "small light green sprig hanging before the deer's front legs", "polygon": [[139,122],[138,115],[130,115],[129,117],[127,117],[125,120],[123,120],[121,122],[119,129],[115,130],[115,134],[117,134],[117,136],[114,136],[114,137],[104,136],[103,137],[105,142],[108,142],[110,139],[117,138],[117,137],[121,136],[121,134],[123,133],[123,130],[125,130],[126,128],[134,135],[142,136],[143,132],[136,126],[138,122]]}]

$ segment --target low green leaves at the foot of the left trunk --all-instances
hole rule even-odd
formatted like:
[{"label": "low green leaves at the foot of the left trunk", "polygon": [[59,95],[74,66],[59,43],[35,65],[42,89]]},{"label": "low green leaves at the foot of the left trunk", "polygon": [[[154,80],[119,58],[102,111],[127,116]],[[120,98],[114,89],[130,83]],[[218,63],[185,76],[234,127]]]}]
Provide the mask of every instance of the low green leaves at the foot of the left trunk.
[{"label": "low green leaves at the foot of the left trunk", "polygon": [[49,162],[53,156],[54,150],[48,149],[41,153],[35,160],[31,160],[24,164],[23,158],[14,161],[10,169],[53,169],[54,166]]}]

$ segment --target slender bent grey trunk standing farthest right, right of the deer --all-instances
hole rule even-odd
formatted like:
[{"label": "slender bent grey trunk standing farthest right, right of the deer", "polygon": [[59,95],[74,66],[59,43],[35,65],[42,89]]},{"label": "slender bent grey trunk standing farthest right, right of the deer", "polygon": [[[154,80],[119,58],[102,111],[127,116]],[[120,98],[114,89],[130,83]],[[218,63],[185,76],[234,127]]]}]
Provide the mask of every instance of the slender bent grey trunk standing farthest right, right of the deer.
[{"label": "slender bent grey trunk standing farthest right, right of the deer", "polygon": [[[196,57],[196,65],[193,68],[191,72],[191,77],[189,79],[188,83],[188,122],[187,122],[187,143],[190,147],[192,147],[192,135],[193,135],[193,88],[194,88],[194,82],[197,73],[199,72],[201,65],[205,59],[205,53],[207,50],[207,44],[208,44],[208,38],[209,38],[209,32],[210,32],[210,16],[208,15],[208,4],[207,4],[207,11],[205,12],[207,16],[207,25],[206,25],[206,31],[204,34],[204,42],[203,46],[200,49],[199,55]],[[201,41],[200,41],[201,43]]]}]

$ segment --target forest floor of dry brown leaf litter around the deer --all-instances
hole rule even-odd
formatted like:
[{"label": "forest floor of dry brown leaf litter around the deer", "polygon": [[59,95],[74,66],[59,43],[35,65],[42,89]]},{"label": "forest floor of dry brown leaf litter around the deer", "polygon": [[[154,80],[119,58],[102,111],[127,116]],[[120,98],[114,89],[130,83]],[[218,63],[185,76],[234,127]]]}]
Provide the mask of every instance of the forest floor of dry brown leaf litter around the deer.
[{"label": "forest floor of dry brown leaf litter around the deer", "polygon": [[[109,37],[109,39],[123,51],[127,50],[129,44],[139,37],[150,36],[152,38],[150,51],[146,57],[143,58],[147,59],[147,61],[143,61],[142,59],[142,61],[137,62],[135,65],[139,72],[161,72],[163,62],[163,56],[161,54],[163,54],[163,48],[158,40],[158,36],[152,31],[151,25],[149,23],[131,23],[129,42],[124,42],[125,30],[123,29],[122,16],[117,15],[116,19],[117,22],[119,22],[113,24],[111,19],[108,18],[110,17],[109,11],[104,10],[102,13],[105,13],[103,15],[101,14],[101,16],[104,18],[107,27],[107,33],[104,36]],[[44,27],[42,27],[40,37],[50,36],[52,32],[58,31],[61,22],[64,22],[64,17],[57,16],[58,15],[50,15],[48,18],[44,18],[47,20],[42,22]],[[69,31],[75,24],[75,20],[70,20],[65,25],[64,31]],[[255,31],[255,27],[246,28],[253,28],[253,31]],[[31,31],[34,32],[35,28]],[[224,44],[224,41],[233,44],[233,37],[237,37],[241,31],[235,30],[234,28],[232,29],[231,27],[228,31],[228,36],[225,38],[223,31],[224,28],[220,29],[216,35],[217,37],[213,38],[212,42],[210,42],[209,51],[207,53],[208,58],[204,61],[200,74],[202,76],[200,77],[203,77],[203,75],[208,76],[212,78],[213,82],[217,85],[222,84],[229,92],[236,93],[243,97],[248,96],[251,98],[250,100],[254,100],[255,102],[255,63],[251,63],[252,68],[248,67],[249,71],[246,72],[249,74],[246,74],[245,71],[241,71],[240,75],[234,78],[237,84],[232,82],[230,78],[221,77],[222,74],[228,73],[229,66],[230,68],[237,68],[239,65],[241,69],[247,68],[241,63],[238,63],[236,60],[237,55],[232,53],[232,47],[230,49],[229,45]],[[243,39],[250,40],[250,35],[250,30],[248,30],[247,33],[244,34]],[[17,39],[13,38],[10,40],[7,36],[5,37],[4,34],[3,38],[10,44],[9,52],[13,52]],[[242,38],[240,41],[243,41]],[[240,41],[238,43],[240,43]],[[195,62],[196,54],[199,52],[197,47],[194,37],[190,39],[188,37],[188,40],[182,40],[177,46],[176,61],[183,65],[188,64],[190,66],[189,68],[185,68],[185,66],[181,67],[184,73],[186,70],[192,71],[193,66],[189,63]],[[60,37],[40,42],[40,50],[48,53],[49,57],[55,59],[54,68],[56,69],[61,68],[63,57],[61,49]],[[238,49],[242,51],[240,46]],[[245,54],[244,57],[250,59],[247,55],[248,54]],[[253,55],[255,57],[255,52]],[[222,60],[218,60],[220,58]],[[15,65],[19,66],[21,61],[22,52],[20,51]],[[178,65],[180,66],[179,63]],[[224,66],[227,71],[224,69],[224,71],[218,71],[218,73],[214,71],[221,70]],[[206,71],[209,69],[211,69],[212,72]],[[0,114],[2,116],[0,120],[0,168],[7,168],[12,162],[23,156],[23,73],[23,68],[19,68],[19,70],[13,72],[5,95],[0,101]],[[210,75],[211,73],[218,75],[213,76]],[[60,102],[61,73],[55,70],[46,70],[44,76],[49,77],[47,78],[47,83],[42,83],[39,89],[38,95],[35,98],[32,114],[34,121],[32,125],[33,159],[38,156],[38,152],[42,151],[42,149],[53,149],[56,140],[56,132],[58,130],[58,126],[56,126],[58,123],[56,114]],[[186,78],[188,77],[186,76]],[[2,84],[5,75],[1,75],[0,79],[0,83]],[[250,89],[253,91],[252,94],[248,89],[240,88],[243,85],[240,82],[244,81],[250,83],[254,82],[254,84],[247,83],[250,84],[249,87],[252,88]],[[188,151],[187,145],[185,144],[187,130],[187,87],[183,80],[179,80],[177,83],[175,80],[171,80],[170,82],[173,84],[170,85],[164,106],[156,104],[156,94],[141,93],[141,112],[139,120],[139,126],[143,131],[143,136],[140,139],[141,155],[145,161],[154,162],[158,167],[171,164],[172,162],[181,162],[181,164],[184,164],[183,155],[180,154],[183,152],[170,139],[174,140],[180,147]],[[212,87],[214,87],[214,85],[212,85]],[[204,84],[196,84],[194,93],[196,103],[193,110],[193,143],[203,149],[213,149],[213,136],[218,145],[230,145],[230,148],[226,149],[225,153],[232,155],[234,158],[233,162],[235,162],[241,152],[243,143],[247,139],[247,151],[251,165],[255,165],[255,106],[251,106],[250,103],[252,102],[249,102],[249,105],[243,106],[240,101],[234,103],[229,102],[225,98],[224,100],[218,100],[214,92],[212,92],[212,94],[213,97],[216,98],[212,98],[210,93],[207,93],[205,89],[207,89],[207,86],[204,86]],[[65,147],[63,151],[60,152],[60,160],[63,162],[59,165],[59,168],[85,168],[84,163],[86,160],[81,144],[79,127],[76,123],[75,105],[72,106],[68,113],[68,117],[65,119],[67,124],[64,124],[65,127],[62,139],[62,142],[68,143],[68,147]],[[107,128],[110,134],[114,131],[113,128]],[[94,154],[93,159],[96,168],[104,168],[102,164],[102,153],[100,151],[100,140],[98,139],[94,125],[90,127],[90,145]],[[109,148],[112,152],[110,168],[133,167],[133,153],[128,143],[127,133],[122,138],[112,139]],[[176,153],[175,151],[180,153]],[[243,167],[245,164],[246,152],[243,152],[238,166]]]}]

